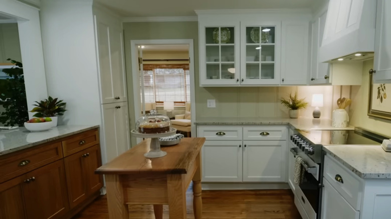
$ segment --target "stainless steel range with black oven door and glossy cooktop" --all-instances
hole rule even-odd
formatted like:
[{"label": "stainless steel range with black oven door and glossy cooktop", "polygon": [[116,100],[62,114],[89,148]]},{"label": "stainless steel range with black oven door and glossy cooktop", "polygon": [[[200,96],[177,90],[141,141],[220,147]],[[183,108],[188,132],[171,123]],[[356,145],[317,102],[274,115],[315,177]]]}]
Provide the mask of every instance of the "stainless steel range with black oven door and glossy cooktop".
[{"label": "stainless steel range with black oven door and glossy cooktop", "polygon": [[324,154],[322,145],[381,144],[385,137],[356,127],[354,130],[300,130],[290,136],[292,155],[303,158],[303,180],[295,184],[295,205],[303,218],[320,218]]}]

